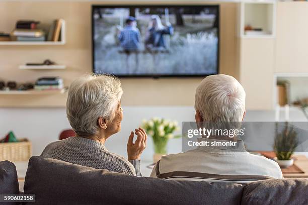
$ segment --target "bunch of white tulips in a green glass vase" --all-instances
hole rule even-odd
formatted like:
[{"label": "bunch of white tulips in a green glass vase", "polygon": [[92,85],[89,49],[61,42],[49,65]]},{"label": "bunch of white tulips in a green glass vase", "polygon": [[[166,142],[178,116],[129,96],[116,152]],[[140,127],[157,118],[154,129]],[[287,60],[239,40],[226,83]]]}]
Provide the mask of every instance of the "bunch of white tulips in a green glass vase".
[{"label": "bunch of white tulips in a green glass vase", "polygon": [[176,121],[152,118],[148,121],[143,120],[141,127],[153,139],[155,151],[153,162],[157,162],[163,155],[167,154],[167,143],[169,139],[181,137],[181,135],[174,135],[174,132],[179,130]]}]

